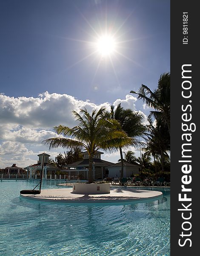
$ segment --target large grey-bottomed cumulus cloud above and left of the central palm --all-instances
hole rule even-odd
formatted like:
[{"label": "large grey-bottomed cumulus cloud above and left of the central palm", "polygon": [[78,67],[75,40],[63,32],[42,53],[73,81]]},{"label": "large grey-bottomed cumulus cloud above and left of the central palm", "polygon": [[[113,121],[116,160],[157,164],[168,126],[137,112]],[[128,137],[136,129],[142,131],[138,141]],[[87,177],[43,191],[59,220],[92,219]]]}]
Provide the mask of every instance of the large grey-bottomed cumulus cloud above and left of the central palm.
[{"label": "large grey-bottomed cumulus cloud above and left of the central palm", "polygon": [[0,95],[0,118],[2,123],[23,125],[29,128],[49,129],[56,125],[74,126],[72,110],[104,106],[109,109],[109,103],[95,105],[89,101],[77,100],[67,94],[48,92],[39,97],[9,97]]}]

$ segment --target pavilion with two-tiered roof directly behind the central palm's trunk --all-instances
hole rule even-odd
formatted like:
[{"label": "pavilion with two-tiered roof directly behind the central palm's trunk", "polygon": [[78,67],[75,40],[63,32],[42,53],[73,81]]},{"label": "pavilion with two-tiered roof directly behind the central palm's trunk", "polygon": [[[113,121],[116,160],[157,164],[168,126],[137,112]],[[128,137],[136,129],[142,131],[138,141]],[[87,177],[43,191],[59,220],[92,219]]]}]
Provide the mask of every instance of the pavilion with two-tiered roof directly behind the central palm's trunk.
[{"label": "pavilion with two-tiered roof directly behind the central palm's trunk", "polygon": [[[81,179],[88,179],[88,169],[89,169],[89,155],[87,151],[83,151],[83,159],[75,163],[68,164],[66,167],[68,174],[71,176],[79,176]],[[101,155],[103,152],[97,151],[93,158],[93,178],[103,179],[108,177],[108,166],[113,165],[113,163],[102,160]]]}]

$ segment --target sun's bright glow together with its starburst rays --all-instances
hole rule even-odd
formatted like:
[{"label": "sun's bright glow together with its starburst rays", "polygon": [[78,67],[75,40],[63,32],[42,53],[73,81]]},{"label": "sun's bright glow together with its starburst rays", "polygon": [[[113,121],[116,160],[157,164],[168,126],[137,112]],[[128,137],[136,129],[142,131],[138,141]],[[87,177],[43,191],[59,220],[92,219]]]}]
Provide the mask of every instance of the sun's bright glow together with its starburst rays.
[{"label": "sun's bright glow together with its starburst rays", "polygon": [[[86,19],[86,17],[80,12],[81,17],[83,17],[83,20],[87,23],[89,26],[89,30],[83,30],[86,32],[89,37],[86,39],[78,39],[78,38],[66,38],[71,41],[77,41],[81,44],[85,44],[87,54],[82,58],[80,58],[77,62],[69,66],[68,68],[74,67],[77,64],[80,64],[82,61],[86,61],[86,59],[91,59],[90,65],[95,61],[97,66],[96,69],[94,68],[94,76],[91,79],[91,84],[95,82],[96,76],[98,71],[105,67],[106,69],[111,68],[114,72],[114,76],[117,80],[117,83],[120,84],[120,81],[117,76],[117,70],[116,66],[118,64],[121,64],[120,58],[123,57],[128,61],[133,62],[134,64],[138,64],[134,60],[132,60],[129,55],[127,56],[125,54],[125,51],[129,48],[126,47],[127,43],[130,44],[131,41],[137,40],[137,38],[128,39],[126,38],[126,34],[128,31],[123,28],[126,21],[129,19],[129,17],[132,15],[133,12],[131,12],[125,20],[122,21],[122,23],[118,23],[116,20],[116,24],[118,26],[115,26],[115,21],[109,21],[102,20],[102,24],[100,20],[97,18],[97,22],[94,24],[91,24],[89,20]],[[122,29],[123,28],[123,29]],[[91,33],[92,32],[92,33]],[[140,38],[138,38],[140,39]],[[82,49],[82,47],[81,47]],[[130,48],[131,49],[131,48]],[[91,57],[94,58],[91,58]],[[98,90],[98,88],[95,86],[93,87],[94,90]]]}]

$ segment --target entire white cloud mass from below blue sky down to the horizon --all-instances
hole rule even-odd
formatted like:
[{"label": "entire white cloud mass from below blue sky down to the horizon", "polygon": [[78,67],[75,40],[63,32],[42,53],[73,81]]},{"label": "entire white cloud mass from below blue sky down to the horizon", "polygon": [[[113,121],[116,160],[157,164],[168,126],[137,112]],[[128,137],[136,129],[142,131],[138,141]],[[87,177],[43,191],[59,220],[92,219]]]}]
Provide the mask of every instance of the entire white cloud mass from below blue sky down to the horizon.
[{"label": "entire white cloud mass from below blue sky down to the horizon", "polygon": [[[136,111],[136,100],[134,96],[126,95],[125,99],[117,99],[113,105],[117,107],[121,103],[123,108]],[[76,125],[72,110],[78,112],[80,108],[86,108],[91,113],[101,107],[110,111],[111,103],[96,105],[89,100],[82,101],[67,94],[48,92],[36,98],[14,98],[0,94],[0,168],[11,166],[13,161],[20,167],[37,163],[37,154],[43,150],[47,153],[49,150],[41,142],[58,136],[53,131],[54,126]],[[147,122],[146,116],[144,122]],[[63,149],[51,151],[49,154],[54,159],[60,151],[63,152]],[[117,154],[113,157],[118,160]],[[103,159],[109,161],[110,157],[111,155],[105,154]],[[111,158],[115,159],[113,157]]]}]

